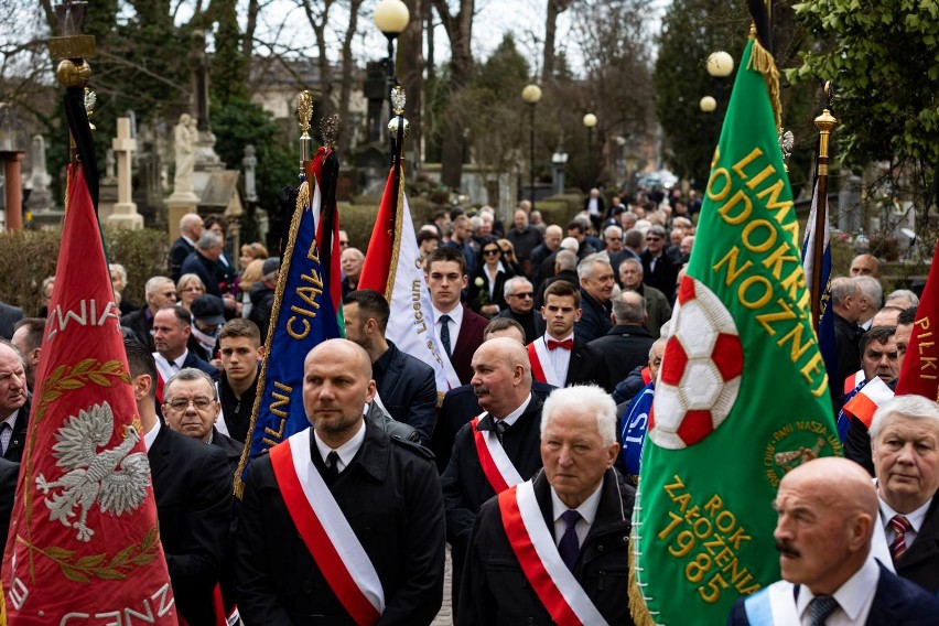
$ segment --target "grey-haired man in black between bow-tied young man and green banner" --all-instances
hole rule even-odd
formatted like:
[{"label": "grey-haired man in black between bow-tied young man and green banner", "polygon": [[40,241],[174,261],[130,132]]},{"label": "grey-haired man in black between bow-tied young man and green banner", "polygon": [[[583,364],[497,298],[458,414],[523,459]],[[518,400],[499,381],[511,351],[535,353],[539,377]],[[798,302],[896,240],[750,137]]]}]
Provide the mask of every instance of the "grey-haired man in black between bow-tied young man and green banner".
[{"label": "grey-haired man in black between bow-tied young man and green banner", "polygon": [[646,301],[635,291],[623,291],[613,301],[613,326],[606,335],[590,342],[603,356],[609,380],[625,380],[633,369],[645,365],[655,337],[644,327]]}]

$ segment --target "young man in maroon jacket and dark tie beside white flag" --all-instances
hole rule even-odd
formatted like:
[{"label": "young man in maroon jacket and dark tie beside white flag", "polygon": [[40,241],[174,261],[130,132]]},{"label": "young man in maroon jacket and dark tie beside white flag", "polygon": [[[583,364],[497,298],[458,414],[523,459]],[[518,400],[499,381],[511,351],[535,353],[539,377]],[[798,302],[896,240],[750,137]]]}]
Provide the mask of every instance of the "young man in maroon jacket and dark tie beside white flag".
[{"label": "young man in maroon jacket and dark tie beside white flag", "polygon": [[488,321],[460,301],[467,282],[463,253],[450,246],[438,248],[428,255],[424,277],[431,295],[438,345],[453,365],[460,384],[466,385],[473,377],[473,354],[483,343],[483,328]]}]

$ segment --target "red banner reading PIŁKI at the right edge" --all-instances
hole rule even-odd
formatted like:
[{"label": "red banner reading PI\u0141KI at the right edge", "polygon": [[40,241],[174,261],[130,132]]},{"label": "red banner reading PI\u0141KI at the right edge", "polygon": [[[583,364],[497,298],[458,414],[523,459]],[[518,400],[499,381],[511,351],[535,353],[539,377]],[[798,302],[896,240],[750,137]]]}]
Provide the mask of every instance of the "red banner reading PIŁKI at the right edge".
[{"label": "red banner reading PI\u0141KI at the right edge", "polygon": [[[939,244],[936,248],[939,252]],[[939,401],[939,268],[936,255],[916,310],[916,322],[903,360],[896,395],[925,396]]]}]

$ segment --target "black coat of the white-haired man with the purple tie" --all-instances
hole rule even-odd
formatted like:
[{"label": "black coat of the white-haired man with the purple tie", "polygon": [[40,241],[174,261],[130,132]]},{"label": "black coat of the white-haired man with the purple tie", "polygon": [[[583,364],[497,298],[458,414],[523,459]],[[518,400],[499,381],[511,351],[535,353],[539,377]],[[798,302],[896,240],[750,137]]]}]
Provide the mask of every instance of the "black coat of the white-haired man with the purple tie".
[{"label": "black coat of the white-haired man with the purple tie", "polygon": [[[551,486],[543,472],[535,477],[541,518],[554,535]],[[628,589],[630,519],[636,492],[615,470],[603,476],[596,518],[583,540],[573,574],[607,624],[633,624]],[[490,499],[479,510],[463,570],[457,620],[461,626],[554,624],[521,570],[499,510]]]}]

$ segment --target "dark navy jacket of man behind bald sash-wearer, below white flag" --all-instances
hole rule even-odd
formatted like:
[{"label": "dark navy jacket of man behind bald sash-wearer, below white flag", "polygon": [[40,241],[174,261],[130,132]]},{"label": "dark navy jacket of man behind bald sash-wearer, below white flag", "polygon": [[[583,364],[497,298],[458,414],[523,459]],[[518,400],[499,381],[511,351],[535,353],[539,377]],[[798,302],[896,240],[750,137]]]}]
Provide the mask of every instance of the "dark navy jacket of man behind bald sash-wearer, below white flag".
[{"label": "dark navy jacket of man behind bald sash-wearer, below white flag", "polygon": [[373,369],[378,396],[388,414],[413,427],[427,445],[436,419],[436,379],[431,366],[388,342],[388,352],[375,361]]}]

